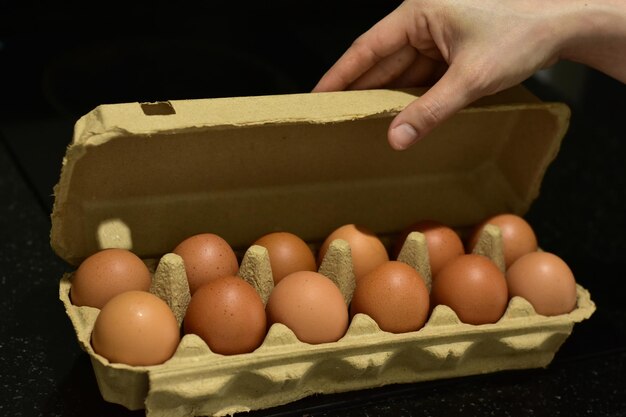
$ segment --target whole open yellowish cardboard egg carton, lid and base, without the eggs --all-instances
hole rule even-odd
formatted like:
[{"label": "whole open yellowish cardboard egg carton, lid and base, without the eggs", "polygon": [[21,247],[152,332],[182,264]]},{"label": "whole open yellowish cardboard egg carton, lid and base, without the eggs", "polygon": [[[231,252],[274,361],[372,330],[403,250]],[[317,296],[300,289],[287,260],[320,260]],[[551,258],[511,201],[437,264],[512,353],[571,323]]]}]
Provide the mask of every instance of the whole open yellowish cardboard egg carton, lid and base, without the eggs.
[{"label": "whole open yellowish cardboard egg carton, lid and base, without the eggs", "polygon": [[[239,275],[262,298],[271,292],[267,252],[249,246],[273,230],[316,247],[334,228],[367,225],[389,242],[417,219],[462,229],[498,212],[523,214],[558,152],[569,111],[522,87],[461,111],[428,140],[403,152],[386,128],[419,90],[372,90],[127,103],[81,118],[67,149],[52,213],[52,247],[71,265],[106,247],[133,250],[153,271],[151,291],[184,316],[182,260],[170,253],[195,233],[224,237],[241,253]],[[476,251],[502,267],[498,230]],[[539,237],[540,239],[541,237]],[[399,255],[427,280],[423,235]],[[349,247],[336,241],[320,272],[349,303],[354,290]],[[534,312],[513,298],[497,323],[461,323],[437,306],[415,332],[381,331],[354,317],[337,342],[298,341],[282,324],[248,354],[212,353],[185,335],[161,365],[109,363],[90,344],[98,310],[69,300],[71,273],[59,295],[91,358],[103,398],[150,416],[229,415],[316,394],[393,383],[547,366],[575,323],[593,314],[577,287],[577,307],[560,316]]]}]

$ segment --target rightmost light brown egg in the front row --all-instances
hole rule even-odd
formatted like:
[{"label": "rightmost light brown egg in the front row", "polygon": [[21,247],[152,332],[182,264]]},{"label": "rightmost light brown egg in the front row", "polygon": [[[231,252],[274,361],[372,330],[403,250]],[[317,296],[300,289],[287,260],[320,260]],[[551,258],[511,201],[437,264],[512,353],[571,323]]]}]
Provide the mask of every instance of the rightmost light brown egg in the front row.
[{"label": "rightmost light brown egg in the front row", "polygon": [[544,316],[576,308],[576,280],[563,259],[550,252],[528,253],[506,272],[509,296],[525,298]]}]

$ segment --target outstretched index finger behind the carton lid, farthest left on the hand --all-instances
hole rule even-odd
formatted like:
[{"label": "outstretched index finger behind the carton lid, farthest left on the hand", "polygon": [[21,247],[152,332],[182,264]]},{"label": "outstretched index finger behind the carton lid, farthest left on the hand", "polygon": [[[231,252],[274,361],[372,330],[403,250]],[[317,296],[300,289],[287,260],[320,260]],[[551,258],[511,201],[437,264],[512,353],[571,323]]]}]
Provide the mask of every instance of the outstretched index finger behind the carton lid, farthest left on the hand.
[{"label": "outstretched index finger behind the carton lid, farthest left on the hand", "polygon": [[400,7],[359,36],[320,78],[313,92],[344,90],[385,57],[407,45],[406,20],[398,12]]}]

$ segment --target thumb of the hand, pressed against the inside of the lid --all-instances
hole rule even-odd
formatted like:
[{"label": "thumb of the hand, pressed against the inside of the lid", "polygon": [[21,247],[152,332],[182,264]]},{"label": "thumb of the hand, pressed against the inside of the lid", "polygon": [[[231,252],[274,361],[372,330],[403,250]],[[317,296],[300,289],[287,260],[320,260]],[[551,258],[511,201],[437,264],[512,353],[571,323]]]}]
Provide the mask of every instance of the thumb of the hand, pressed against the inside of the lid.
[{"label": "thumb of the hand, pressed against the inside of the lid", "polygon": [[426,93],[398,113],[387,132],[391,147],[396,150],[409,148],[468,105],[472,100],[463,78],[455,75],[450,67]]}]

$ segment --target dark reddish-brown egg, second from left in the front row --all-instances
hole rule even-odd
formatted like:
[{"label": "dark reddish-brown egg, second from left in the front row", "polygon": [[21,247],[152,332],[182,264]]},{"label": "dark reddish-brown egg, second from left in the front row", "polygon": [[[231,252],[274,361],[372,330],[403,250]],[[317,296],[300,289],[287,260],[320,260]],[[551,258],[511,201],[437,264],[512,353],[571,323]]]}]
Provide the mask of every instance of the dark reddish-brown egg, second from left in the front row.
[{"label": "dark reddish-brown egg, second from left in the front row", "polygon": [[265,338],[265,306],[254,287],[237,276],[212,279],[191,297],[183,328],[223,355],[249,353]]}]

